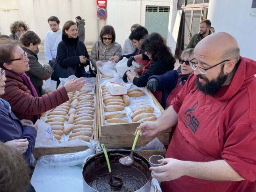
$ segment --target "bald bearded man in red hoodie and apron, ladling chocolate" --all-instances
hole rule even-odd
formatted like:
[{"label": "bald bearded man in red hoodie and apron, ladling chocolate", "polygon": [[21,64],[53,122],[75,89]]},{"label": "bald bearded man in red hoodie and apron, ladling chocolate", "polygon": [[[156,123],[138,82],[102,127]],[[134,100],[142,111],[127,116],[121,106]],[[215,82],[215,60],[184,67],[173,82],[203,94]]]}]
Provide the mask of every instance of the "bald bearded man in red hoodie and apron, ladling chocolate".
[{"label": "bald bearded man in red hoodie and apron, ladling chocolate", "polygon": [[190,65],[195,72],[171,106],[137,128],[149,137],[176,125],[152,177],[163,192],[255,192],[256,61],[219,32],[197,44]]}]

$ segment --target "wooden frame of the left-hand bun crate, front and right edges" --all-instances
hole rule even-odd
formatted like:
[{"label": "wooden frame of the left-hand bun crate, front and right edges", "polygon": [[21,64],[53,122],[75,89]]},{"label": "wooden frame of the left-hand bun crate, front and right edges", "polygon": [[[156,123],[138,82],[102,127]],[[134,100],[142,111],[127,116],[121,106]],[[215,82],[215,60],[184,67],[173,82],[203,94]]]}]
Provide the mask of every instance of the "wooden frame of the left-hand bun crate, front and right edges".
[{"label": "wooden frame of the left-hand bun crate, front and right edges", "polygon": [[[96,85],[97,86],[97,85]],[[97,88],[97,87],[96,87]],[[98,109],[98,101],[97,101],[97,92],[95,93],[96,104],[95,104],[95,116],[94,116],[94,136],[93,141],[98,141],[98,124],[97,124],[97,109]],[[87,145],[79,145],[79,146],[59,146],[59,147],[37,147],[33,150],[33,155],[35,159],[43,155],[50,154],[64,154],[64,153],[73,153],[79,152],[88,149]]]}]

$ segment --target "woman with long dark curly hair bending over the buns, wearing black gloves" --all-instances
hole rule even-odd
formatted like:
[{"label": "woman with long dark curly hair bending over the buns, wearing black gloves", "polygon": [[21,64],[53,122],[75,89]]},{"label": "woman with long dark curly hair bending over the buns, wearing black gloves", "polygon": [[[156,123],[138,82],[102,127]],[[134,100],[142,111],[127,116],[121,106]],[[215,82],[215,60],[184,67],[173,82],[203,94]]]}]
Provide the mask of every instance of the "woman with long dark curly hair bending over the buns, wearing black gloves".
[{"label": "woman with long dark curly hair bending over the buns, wearing black gloves", "polygon": [[[127,81],[127,77],[137,87],[147,86],[147,81],[152,75],[163,75],[167,71],[174,69],[175,58],[172,56],[170,48],[166,45],[165,39],[159,33],[151,33],[141,44],[141,50],[150,59],[147,71],[142,73],[141,77],[132,75],[130,71],[126,71],[123,75],[123,81]],[[153,92],[153,95],[161,103],[162,92]]]}]

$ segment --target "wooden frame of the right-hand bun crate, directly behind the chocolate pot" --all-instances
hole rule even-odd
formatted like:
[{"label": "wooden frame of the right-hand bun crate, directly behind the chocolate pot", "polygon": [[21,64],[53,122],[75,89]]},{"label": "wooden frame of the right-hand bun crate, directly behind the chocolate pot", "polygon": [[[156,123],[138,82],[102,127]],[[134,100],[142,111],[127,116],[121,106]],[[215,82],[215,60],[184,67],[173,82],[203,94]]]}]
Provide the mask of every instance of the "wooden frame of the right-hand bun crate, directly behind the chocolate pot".
[{"label": "wooden frame of the right-hand bun crate, directly behind the chocolate pot", "polygon": [[[147,90],[153,101],[157,106],[159,106],[161,113],[164,113],[164,109],[153,96],[153,94]],[[140,125],[140,123],[122,123],[122,124],[113,124],[113,125],[104,125],[103,120],[103,111],[102,111],[102,99],[101,99],[101,88],[100,88],[100,78],[99,71],[97,71],[97,96],[98,96],[98,134],[100,143],[104,143],[106,148],[126,148],[131,147],[134,141],[134,132],[136,131],[136,127]],[[169,132],[159,133],[156,136],[160,142],[164,145],[169,144]],[[150,141],[152,141],[155,137],[149,138],[139,138],[136,146],[145,146]],[[148,151],[148,150],[146,150]],[[163,153],[166,150],[163,149]],[[146,152],[144,153],[146,154]]]}]

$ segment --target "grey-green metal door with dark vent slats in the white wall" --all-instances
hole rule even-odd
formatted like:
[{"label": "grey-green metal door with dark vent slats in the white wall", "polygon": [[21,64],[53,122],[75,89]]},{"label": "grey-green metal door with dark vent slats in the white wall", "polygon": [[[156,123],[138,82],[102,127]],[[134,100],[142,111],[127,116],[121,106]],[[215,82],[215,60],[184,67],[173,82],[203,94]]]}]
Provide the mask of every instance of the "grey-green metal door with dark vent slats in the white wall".
[{"label": "grey-green metal door with dark vent slats in the white wall", "polygon": [[150,33],[157,32],[167,40],[169,6],[146,6],[145,28]]}]

